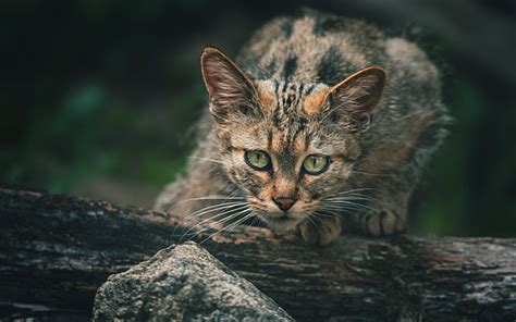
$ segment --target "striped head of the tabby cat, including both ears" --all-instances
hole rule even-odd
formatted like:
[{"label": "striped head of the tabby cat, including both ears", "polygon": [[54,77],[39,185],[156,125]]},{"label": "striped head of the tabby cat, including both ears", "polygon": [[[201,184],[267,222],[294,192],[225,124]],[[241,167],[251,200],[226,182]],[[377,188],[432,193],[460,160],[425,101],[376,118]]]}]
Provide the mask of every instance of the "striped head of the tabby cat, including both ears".
[{"label": "striped head of the tabby cat, including both ears", "polygon": [[202,52],[201,71],[221,160],[248,207],[275,231],[323,215],[321,200],[342,191],[363,153],[385,72],[372,66],[330,85],[258,81],[214,48]]}]

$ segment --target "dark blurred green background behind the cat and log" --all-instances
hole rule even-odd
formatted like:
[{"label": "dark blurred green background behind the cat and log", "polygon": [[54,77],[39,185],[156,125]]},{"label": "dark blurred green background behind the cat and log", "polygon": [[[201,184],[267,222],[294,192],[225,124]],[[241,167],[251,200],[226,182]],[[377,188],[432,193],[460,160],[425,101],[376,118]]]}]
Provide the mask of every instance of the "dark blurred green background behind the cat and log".
[{"label": "dark blurred green background behind the cat and log", "polygon": [[300,5],[418,41],[455,123],[414,197],[415,234],[516,236],[515,2],[0,3],[0,183],[150,207],[205,108],[199,53],[234,55]]}]

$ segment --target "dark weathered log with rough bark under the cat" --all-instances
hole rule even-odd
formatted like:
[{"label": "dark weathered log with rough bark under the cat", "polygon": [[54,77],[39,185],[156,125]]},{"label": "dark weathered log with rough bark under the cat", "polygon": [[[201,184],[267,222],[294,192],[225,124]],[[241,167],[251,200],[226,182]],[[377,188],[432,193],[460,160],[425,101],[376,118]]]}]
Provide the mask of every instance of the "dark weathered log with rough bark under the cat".
[{"label": "dark weathered log with rough bark under the cat", "polygon": [[[85,312],[109,274],[187,230],[168,214],[9,189],[0,189],[0,226],[4,308]],[[516,239],[343,237],[320,248],[250,227],[202,246],[298,320],[516,318]]]}]

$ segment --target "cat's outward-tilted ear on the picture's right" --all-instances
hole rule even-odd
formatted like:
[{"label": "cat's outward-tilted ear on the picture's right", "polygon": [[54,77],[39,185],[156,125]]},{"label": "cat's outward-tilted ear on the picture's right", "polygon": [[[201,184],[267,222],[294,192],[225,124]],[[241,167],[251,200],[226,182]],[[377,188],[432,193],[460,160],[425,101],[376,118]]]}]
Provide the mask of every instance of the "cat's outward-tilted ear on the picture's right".
[{"label": "cat's outward-tilted ear on the picture's right", "polygon": [[385,83],[386,74],[382,67],[367,67],[330,88],[324,101],[331,113],[365,122],[378,107]]}]

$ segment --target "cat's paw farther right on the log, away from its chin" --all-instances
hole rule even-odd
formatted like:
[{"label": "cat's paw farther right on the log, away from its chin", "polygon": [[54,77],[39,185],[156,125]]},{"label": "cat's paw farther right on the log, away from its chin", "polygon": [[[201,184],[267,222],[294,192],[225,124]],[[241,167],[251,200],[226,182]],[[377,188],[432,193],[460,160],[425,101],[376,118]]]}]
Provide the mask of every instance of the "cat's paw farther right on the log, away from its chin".
[{"label": "cat's paw farther right on the log, away from its chin", "polygon": [[374,237],[402,234],[407,231],[406,221],[389,210],[368,214],[365,224],[367,233]]}]

